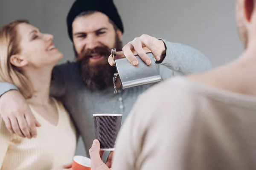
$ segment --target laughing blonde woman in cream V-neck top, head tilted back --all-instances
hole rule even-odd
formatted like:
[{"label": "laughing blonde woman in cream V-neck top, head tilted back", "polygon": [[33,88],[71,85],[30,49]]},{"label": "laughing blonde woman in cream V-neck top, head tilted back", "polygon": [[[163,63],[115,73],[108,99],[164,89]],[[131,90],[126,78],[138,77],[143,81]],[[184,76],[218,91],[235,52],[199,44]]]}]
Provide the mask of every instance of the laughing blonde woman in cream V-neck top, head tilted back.
[{"label": "laughing blonde woman in cream V-neck top, head tilted back", "polygon": [[1,170],[64,168],[74,156],[73,123],[63,105],[49,96],[52,69],[62,58],[52,38],[26,20],[13,21],[0,30],[0,81],[19,88],[39,122],[36,138],[22,138],[9,132],[4,123],[17,119],[0,114]]}]

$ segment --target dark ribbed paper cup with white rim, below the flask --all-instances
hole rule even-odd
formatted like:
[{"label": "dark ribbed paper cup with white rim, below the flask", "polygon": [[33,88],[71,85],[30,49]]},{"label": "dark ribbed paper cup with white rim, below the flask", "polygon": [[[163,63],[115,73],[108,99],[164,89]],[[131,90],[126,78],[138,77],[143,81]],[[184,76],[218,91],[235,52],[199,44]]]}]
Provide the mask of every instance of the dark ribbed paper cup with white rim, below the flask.
[{"label": "dark ribbed paper cup with white rim, below the flask", "polygon": [[100,150],[115,150],[122,114],[93,114],[93,120],[95,136],[100,142]]}]

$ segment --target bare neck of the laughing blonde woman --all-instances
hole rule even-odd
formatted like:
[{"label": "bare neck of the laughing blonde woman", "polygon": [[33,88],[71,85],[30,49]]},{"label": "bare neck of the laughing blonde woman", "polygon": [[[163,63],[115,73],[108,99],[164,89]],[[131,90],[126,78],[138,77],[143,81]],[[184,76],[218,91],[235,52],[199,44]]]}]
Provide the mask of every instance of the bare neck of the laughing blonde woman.
[{"label": "bare neck of the laughing blonde woman", "polygon": [[25,76],[32,85],[32,97],[27,99],[31,105],[47,105],[51,102],[49,97],[52,68],[33,69],[24,71]]}]

